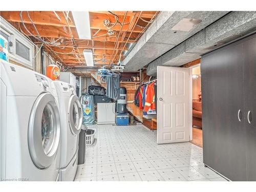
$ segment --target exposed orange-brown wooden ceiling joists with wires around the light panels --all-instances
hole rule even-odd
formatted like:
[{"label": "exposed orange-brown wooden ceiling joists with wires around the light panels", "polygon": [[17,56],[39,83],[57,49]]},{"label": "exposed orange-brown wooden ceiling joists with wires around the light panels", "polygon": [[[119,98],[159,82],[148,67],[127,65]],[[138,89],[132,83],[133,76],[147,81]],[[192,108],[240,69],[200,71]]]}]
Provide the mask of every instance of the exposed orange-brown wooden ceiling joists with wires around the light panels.
[{"label": "exposed orange-brown wooden ceiling joists with wires around the light panels", "polygon": [[[125,12],[90,11],[92,39],[79,39],[71,12],[68,18],[67,11],[23,11],[22,18],[20,11],[2,11],[0,15],[38,46],[42,42],[54,42],[58,39],[57,47],[49,43],[44,46],[45,51],[62,62],[63,66],[84,65],[84,49],[92,49],[95,66],[102,66],[110,60],[112,63],[117,63],[119,59],[122,61],[125,58],[123,51],[129,51],[130,44],[136,42],[144,32],[144,27],[148,24],[145,20],[149,21],[158,14],[156,11],[127,11],[125,15]],[[139,15],[142,19],[138,19]],[[104,24],[105,19],[110,23]],[[129,45],[125,46],[126,42]]]}]

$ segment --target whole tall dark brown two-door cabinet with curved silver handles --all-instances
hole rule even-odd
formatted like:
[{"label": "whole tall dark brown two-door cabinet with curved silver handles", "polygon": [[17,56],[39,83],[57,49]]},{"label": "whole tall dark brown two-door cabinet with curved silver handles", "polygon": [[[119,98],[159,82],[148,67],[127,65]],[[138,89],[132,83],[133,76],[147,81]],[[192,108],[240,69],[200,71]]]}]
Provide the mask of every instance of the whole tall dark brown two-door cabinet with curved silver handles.
[{"label": "whole tall dark brown two-door cabinet with curved silver handles", "polygon": [[256,180],[255,40],[247,36],[201,60],[204,163],[233,181]]}]

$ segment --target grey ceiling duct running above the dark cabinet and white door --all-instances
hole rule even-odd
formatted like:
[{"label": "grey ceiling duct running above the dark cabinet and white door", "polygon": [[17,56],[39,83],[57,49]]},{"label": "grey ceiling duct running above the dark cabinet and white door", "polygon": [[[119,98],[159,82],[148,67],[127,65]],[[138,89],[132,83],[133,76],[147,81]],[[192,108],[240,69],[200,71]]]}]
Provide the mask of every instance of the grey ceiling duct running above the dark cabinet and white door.
[{"label": "grey ceiling duct running above the dark cabinet and white door", "polygon": [[217,22],[164,53],[147,68],[147,75],[156,76],[157,66],[178,67],[201,58],[201,54],[256,30],[256,12],[230,12]]}]

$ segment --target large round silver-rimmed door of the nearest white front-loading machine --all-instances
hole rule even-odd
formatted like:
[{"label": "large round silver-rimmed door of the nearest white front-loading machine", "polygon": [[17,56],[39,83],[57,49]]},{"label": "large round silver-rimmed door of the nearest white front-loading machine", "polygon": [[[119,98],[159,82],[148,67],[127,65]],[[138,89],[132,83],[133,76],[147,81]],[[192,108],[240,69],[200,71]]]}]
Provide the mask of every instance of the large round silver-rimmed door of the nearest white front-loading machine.
[{"label": "large round silver-rimmed door of the nearest white front-loading machine", "polygon": [[37,168],[47,168],[54,162],[59,140],[58,106],[52,94],[42,93],[33,105],[28,127],[29,153]]}]

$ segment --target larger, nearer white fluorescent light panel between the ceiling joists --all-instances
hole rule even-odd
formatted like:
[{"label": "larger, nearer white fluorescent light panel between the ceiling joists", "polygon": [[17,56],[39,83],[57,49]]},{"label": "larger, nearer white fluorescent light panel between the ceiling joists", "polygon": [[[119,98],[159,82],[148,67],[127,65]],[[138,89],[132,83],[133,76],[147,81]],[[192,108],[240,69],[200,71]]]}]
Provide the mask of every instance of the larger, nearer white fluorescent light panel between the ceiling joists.
[{"label": "larger, nearer white fluorescent light panel between the ceiling joists", "polygon": [[91,39],[89,11],[72,11],[80,39]]}]

